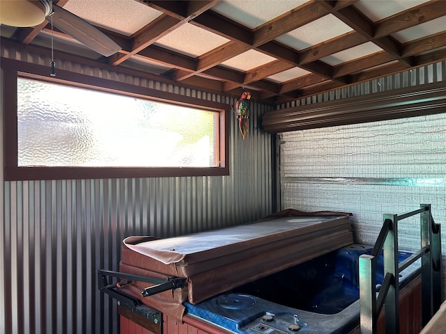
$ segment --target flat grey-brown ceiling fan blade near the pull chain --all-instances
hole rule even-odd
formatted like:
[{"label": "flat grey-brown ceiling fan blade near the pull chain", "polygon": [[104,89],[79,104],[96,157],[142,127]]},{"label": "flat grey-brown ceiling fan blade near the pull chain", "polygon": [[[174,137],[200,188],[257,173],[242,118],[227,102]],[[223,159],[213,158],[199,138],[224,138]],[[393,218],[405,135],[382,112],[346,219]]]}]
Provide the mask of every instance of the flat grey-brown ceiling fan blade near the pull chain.
[{"label": "flat grey-brown ceiling fan blade near the pull chain", "polygon": [[112,39],[84,21],[84,19],[56,5],[53,5],[53,10],[52,19],[54,26],[93,51],[98,52],[98,54],[108,57],[121,50],[121,47]]}]

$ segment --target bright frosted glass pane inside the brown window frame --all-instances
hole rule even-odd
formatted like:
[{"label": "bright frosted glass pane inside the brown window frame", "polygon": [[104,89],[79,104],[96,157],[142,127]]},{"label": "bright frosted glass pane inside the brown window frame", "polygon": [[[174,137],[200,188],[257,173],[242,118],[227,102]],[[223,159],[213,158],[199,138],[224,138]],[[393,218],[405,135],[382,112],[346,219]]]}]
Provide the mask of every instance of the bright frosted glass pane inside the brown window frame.
[{"label": "bright frosted glass pane inside the brown window frame", "polygon": [[217,166],[218,113],[17,81],[19,166]]}]

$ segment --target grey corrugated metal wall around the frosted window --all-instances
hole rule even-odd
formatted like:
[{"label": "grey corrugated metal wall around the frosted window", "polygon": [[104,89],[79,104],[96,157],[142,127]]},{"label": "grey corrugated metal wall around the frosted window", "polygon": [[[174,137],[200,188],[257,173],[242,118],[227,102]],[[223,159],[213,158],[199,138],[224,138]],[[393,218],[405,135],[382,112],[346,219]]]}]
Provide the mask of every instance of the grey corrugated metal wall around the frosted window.
[{"label": "grey corrugated metal wall around the frosted window", "polygon": [[[4,47],[1,56],[49,64],[49,58]],[[235,104],[238,98],[61,59],[56,64],[199,99]],[[96,270],[118,270],[124,237],[169,237],[270,214],[273,144],[260,129],[267,110],[252,103],[245,141],[231,116],[229,176],[1,182],[0,333],[118,333],[116,301],[98,291]]]}]

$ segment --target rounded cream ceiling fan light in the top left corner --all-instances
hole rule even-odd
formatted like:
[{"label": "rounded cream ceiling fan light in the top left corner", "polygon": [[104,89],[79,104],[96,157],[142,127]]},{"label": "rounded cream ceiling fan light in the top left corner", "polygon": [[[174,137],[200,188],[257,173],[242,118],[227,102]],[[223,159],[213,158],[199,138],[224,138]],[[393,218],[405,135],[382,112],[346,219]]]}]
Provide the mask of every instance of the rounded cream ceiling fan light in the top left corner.
[{"label": "rounded cream ceiling fan light in the top left corner", "polygon": [[51,0],[0,1],[0,24],[7,26],[37,26],[52,11]]}]

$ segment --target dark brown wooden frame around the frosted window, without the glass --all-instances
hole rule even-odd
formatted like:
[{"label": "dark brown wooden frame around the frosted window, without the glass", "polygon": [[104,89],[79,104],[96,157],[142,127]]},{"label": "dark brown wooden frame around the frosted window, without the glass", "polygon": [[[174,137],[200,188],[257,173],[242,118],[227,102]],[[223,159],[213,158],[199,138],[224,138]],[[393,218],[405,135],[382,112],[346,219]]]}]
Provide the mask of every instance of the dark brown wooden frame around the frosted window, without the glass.
[{"label": "dark brown wooden frame around the frosted window, without the glass", "polygon": [[[1,58],[3,75],[3,147],[4,179],[13,180],[75,180],[108,179],[128,177],[187,177],[229,175],[229,104],[211,102],[161,90],[125,84],[109,79],[90,77],[85,74],[57,70],[56,77],[49,76],[49,67]],[[54,84],[118,93],[164,102],[199,108],[219,113],[219,154],[217,167],[22,167],[17,163],[17,78],[38,79]]]}]

